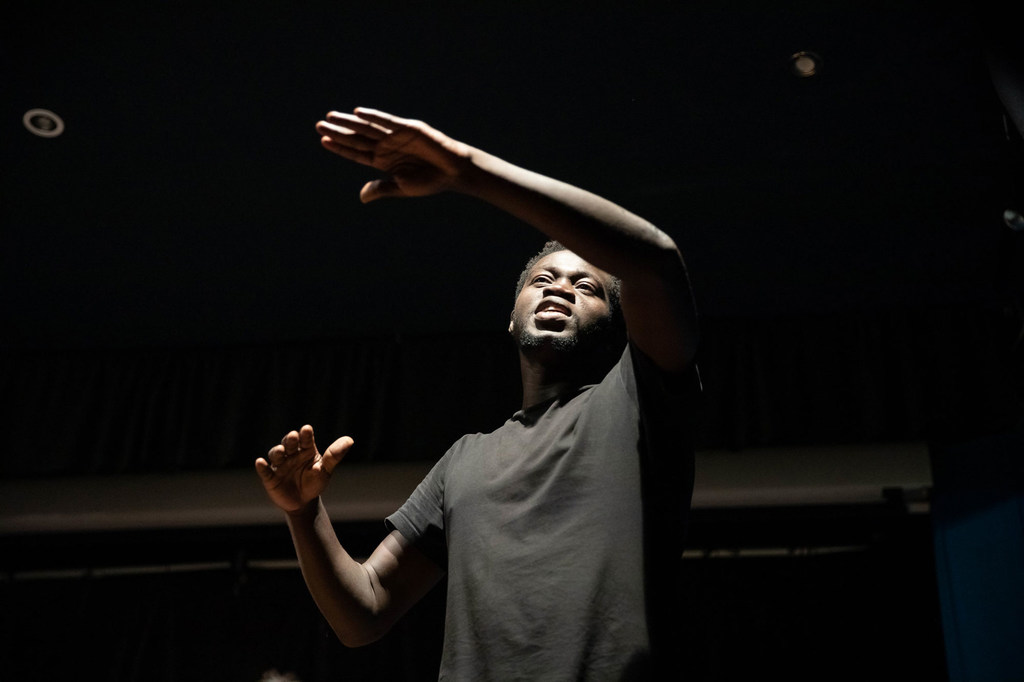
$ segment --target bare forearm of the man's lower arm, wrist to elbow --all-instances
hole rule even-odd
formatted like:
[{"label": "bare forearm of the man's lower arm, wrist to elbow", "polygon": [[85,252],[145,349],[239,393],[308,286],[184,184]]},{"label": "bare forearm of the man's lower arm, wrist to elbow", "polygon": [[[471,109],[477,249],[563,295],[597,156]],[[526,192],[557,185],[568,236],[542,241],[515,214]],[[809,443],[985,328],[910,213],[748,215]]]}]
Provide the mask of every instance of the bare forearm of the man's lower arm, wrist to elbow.
[{"label": "bare forearm of the man's lower arm, wrist to elbow", "polygon": [[306,587],[338,639],[360,646],[384,634],[373,577],[342,547],[323,502],[288,514],[288,527]]}]

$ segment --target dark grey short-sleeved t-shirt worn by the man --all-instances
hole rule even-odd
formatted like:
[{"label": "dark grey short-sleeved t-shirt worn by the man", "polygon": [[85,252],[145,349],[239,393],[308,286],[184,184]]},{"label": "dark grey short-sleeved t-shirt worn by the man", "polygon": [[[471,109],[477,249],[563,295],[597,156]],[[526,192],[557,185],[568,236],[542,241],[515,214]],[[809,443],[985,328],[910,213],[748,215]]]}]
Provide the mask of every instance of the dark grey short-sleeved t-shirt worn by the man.
[{"label": "dark grey short-sleeved t-shirt worn by the man", "polygon": [[648,671],[692,491],[695,384],[629,347],[600,384],[460,438],[388,517],[447,571],[440,679]]}]

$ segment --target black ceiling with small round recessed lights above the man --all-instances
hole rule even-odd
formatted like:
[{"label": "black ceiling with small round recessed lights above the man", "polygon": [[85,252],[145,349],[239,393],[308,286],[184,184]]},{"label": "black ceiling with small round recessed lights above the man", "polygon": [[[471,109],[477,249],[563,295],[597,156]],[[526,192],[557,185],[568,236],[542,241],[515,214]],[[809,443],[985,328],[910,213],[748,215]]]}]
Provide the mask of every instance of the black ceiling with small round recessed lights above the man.
[{"label": "black ceiling with small round recessed lights above the man", "polygon": [[[24,7],[0,342],[501,329],[543,238],[461,197],[360,205],[372,173],[313,131],[356,105],[650,218],[709,316],[997,297],[1019,177],[967,3],[725,4]],[[66,132],[30,134],[35,108]]]}]

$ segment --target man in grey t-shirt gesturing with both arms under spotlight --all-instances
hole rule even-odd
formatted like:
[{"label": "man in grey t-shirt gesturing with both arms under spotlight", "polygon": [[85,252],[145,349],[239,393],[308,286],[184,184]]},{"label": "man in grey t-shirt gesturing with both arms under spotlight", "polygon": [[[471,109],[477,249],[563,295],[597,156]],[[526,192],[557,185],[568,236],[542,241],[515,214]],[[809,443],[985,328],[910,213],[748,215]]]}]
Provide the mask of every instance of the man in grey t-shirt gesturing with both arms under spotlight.
[{"label": "man in grey t-shirt gesturing with both arms under spotlight", "polygon": [[678,646],[672,593],[692,488],[696,319],[675,243],[419,121],[356,109],[316,129],[330,152],[385,173],[364,202],[461,193],[553,241],[520,278],[509,325],[522,410],[453,445],[365,562],[318,498],[351,438],[321,453],[303,426],[256,461],[325,617],[346,645],[372,642],[446,576],[441,679],[652,675],[652,654],[667,664]]}]

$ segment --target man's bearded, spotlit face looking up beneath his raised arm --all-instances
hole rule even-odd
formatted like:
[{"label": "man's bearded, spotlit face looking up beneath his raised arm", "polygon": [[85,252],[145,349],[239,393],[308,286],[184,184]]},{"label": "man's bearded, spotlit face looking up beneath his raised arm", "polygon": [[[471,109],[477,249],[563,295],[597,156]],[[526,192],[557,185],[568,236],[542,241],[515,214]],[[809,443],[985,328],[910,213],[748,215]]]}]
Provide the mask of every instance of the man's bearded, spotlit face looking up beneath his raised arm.
[{"label": "man's bearded, spotlit face looking up beneath his raised arm", "polygon": [[571,251],[537,262],[512,309],[509,333],[520,348],[573,350],[589,345],[611,322],[611,275]]}]

